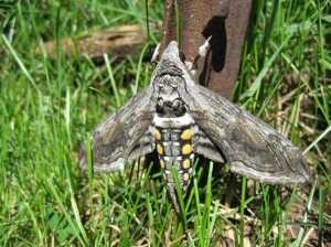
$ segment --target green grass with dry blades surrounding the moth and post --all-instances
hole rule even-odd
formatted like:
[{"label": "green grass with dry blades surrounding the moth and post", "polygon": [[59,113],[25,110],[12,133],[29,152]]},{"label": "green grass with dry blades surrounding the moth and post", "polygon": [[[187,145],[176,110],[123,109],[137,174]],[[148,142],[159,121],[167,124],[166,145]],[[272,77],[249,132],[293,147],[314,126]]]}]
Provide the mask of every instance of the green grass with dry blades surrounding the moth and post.
[{"label": "green grass with dry blades surrounding the moth and post", "polygon": [[[331,243],[330,2],[255,1],[234,94],[306,153],[312,183],[261,185],[226,165],[196,164],[182,217],[148,162],[79,171],[87,132],[148,85],[153,65],[35,53],[45,40],[145,24],[143,1],[70,2],[0,2],[1,246]],[[149,20],[162,13],[150,1]]]}]

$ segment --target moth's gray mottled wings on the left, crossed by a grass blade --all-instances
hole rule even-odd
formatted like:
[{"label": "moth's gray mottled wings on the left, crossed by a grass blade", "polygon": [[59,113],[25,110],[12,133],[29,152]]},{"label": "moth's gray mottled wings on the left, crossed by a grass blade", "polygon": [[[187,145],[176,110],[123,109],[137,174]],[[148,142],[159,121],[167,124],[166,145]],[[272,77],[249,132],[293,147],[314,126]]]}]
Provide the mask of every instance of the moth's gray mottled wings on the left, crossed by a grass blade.
[{"label": "moth's gray mottled wings on the left, crossed by a grass blade", "polygon": [[[154,149],[149,131],[156,111],[152,93],[152,86],[140,90],[92,132],[94,171],[122,170],[127,160]],[[86,143],[79,153],[79,167],[87,169]]]}]

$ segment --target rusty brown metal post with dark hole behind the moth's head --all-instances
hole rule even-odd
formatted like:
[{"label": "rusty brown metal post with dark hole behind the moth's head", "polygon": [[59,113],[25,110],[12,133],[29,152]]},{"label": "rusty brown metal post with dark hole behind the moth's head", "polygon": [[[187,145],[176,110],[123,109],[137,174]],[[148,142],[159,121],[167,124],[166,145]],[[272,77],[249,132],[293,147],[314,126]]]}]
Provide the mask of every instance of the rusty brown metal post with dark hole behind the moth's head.
[{"label": "rusty brown metal post with dark hole behind the moth's head", "polygon": [[[180,50],[193,62],[199,46],[211,40],[211,52],[200,61],[195,82],[228,98],[238,76],[250,13],[250,0],[178,0]],[[161,51],[175,40],[174,0],[166,0]]]}]

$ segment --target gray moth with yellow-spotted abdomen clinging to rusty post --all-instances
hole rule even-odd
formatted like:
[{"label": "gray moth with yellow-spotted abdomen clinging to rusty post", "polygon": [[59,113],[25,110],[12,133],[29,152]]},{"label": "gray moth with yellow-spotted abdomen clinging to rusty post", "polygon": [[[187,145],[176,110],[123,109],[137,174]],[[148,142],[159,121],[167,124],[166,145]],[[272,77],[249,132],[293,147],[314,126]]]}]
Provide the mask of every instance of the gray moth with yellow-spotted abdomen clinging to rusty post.
[{"label": "gray moth with yellow-spotted abdomen clinging to rusty post", "polygon": [[[164,50],[150,85],[92,132],[96,172],[122,170],[128,160],[153,150],[177,212],[172,168],[185,196],[195,154],[226,162],[231,171],[263,183],[309,181],[300,151],[265,122],[197,85],[174,41]],[[79,167],[87,169],[85,143]]]}]

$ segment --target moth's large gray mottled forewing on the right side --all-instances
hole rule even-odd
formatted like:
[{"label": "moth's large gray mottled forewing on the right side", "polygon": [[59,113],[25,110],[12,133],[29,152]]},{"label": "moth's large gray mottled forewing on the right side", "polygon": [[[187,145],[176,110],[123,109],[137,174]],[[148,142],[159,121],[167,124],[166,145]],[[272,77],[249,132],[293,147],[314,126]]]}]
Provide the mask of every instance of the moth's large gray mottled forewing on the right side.
[{"label": "moth's large gray mottled forewing on the right side", "polygon": [[275,129],[210,89],[185,79],[181,97],[231,170],[264,183],[308,182],[300,151]]}]

